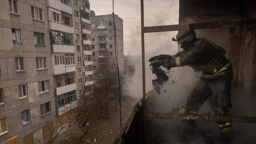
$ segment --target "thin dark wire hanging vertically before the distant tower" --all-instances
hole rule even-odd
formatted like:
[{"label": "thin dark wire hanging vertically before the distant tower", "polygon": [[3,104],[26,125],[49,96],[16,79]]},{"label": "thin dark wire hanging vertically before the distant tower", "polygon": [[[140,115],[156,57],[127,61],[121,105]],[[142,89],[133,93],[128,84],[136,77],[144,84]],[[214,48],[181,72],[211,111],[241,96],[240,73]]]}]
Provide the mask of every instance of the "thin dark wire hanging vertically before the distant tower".
[{"label": "thin dark wire hanging vertically before the distant tower", "polygon": [[122,112],[121,112],[121,83],[120,83],[120,75],[119,75],[119,67],[118,67],[118,49],[117,49],[117,33],[115,27],[115,13],[114,13],[114,0],[112,0],[113,7],[113,25],[114,25],[114,41],[115,41],[115,61],[117,63],[117,75],[118,75],[118,86],[119,86],[119,111],[120,111],[120,131],[122,131]]}]

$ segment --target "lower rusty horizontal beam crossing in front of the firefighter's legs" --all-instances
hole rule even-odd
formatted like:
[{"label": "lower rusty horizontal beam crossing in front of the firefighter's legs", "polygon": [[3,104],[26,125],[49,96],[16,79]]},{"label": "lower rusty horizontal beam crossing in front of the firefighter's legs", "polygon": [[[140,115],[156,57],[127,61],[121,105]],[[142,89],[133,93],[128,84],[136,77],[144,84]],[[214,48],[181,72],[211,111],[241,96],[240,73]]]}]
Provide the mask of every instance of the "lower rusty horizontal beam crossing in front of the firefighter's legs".
[{"label": "lower rusty horizontal beam crossing in front of the firefighter's legs", "polygon": [[256,117],[149,113],[147,118],[256,123]]}]

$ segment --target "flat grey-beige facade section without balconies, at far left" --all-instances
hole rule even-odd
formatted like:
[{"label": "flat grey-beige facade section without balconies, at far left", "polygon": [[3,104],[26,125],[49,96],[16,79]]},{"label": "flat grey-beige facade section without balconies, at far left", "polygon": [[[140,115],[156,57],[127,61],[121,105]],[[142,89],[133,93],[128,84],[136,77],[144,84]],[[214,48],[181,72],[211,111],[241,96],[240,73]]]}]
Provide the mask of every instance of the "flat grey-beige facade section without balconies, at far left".
[{"label": "flat grey-beige facade section without balconies, at far left", "polygon": [[0,68],[0,143],[43,143],[56,125],[46,0],[1,0]]}]

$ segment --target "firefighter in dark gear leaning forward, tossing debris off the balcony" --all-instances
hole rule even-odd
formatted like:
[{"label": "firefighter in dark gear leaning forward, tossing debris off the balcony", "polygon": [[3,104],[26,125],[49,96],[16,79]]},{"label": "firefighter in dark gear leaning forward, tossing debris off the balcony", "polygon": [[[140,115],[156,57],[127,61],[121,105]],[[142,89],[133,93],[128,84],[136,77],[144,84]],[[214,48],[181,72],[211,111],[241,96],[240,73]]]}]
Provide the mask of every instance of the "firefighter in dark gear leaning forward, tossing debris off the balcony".
[{"label": "firefighter in dark gear leaning forward, tossing debris off the balcony", "polygon": [[[148,61],[151,62],[150,66],[164,66],[168,70],[188,65],[197,72],[196,76],[200,79],[186,102],[184,114],[197,114],[202,104],[213,96],[215,115],[229,116],[228,108],[232,107],[230,88],[233,70],[224,56],[226,51],[208,39],[197,39],[194,30],[179,31],[173,41],[180,44],[183,49],[181,52],[176,55],[157,55]],[[221,140],[224,143],[231,141],[231,123],[218,121],[217,124]]]}]

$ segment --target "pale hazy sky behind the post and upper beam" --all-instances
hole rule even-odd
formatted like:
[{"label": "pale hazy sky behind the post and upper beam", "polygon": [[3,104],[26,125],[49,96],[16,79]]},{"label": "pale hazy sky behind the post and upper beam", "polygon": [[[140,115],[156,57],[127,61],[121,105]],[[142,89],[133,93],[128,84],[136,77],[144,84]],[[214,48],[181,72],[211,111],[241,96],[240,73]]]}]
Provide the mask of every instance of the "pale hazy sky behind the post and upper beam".
[{"label": "pale hazy sky behind the post and upper beam", "polygon": [[[90,0],[96,15],[112,13],[112,0]],[[115,14],[123,19],[124,54],[141,55],[140,0],[115,0]],[[172,4],[173,3],[173,4]],[[171,6],[172,5],[172,6]],[[171,8],[170,8],[171,6]],[[144,0],[145,26],[178,24],[179,0]],[[145,53],[148,57],[177,52],[176,42],[171,41],[176,31],[146,33]]]}]

